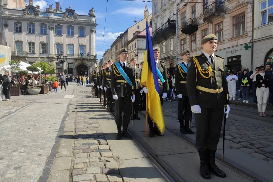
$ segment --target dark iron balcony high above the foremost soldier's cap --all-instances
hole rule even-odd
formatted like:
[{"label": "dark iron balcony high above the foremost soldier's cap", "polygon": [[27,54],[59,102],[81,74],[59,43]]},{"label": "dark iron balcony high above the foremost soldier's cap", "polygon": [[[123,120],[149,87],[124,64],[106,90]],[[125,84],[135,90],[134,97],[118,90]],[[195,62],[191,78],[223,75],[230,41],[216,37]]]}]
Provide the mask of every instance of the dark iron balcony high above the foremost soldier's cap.
[{"label": "dark iron balcony high above the foremost soldier's cap", "polygon": [[224,2],[214,2],[207,6],[204,11],[204,22],[212,23],[212,19],[217,16],[225,16],[225,6]]}]

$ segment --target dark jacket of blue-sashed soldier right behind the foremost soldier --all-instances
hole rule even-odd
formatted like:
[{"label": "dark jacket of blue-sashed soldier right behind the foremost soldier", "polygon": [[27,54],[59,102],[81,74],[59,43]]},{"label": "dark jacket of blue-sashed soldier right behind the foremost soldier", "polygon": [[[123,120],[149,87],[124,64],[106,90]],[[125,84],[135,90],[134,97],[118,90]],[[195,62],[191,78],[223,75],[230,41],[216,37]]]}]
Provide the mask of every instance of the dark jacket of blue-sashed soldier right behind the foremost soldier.
[{"label": "dark jacket of blue-sashed soldier right behind the foremost soldier", "polygon": [[[182,64],[187,68],[184,62],[182,62]],[[184,69],[179,67],[180,66],[176,65],[175,71],[174,71],[176,92],[177,92],[177,95],[182,94],[182,96],[188,96],[187,87],[186,87],[187,84],[180,83],[180,82],[187,82],[187,73],[184,71]],[[179,69],[181,70],[179,71]]]}]

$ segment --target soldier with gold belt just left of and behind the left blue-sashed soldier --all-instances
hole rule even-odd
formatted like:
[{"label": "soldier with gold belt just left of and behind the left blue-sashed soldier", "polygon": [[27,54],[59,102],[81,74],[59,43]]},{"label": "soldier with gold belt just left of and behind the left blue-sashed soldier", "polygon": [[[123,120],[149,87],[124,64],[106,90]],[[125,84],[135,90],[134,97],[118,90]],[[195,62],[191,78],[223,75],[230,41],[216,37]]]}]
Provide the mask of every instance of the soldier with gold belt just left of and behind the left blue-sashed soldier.
[{"label": "soldier with gold belt just left of and behind the left blue-sashed soldier", "polygon": [[[104,77],[103,77],[103,87],[106,91],[106,97],[107,97],[107,108],[108,112],[114,112],[113,110],[113,96],[111,92],[111,66],[113,64],[113,61],[110,59],[108,62],[108,67],[104,69]],[[110,67],[110,68],[109,68]]]}]

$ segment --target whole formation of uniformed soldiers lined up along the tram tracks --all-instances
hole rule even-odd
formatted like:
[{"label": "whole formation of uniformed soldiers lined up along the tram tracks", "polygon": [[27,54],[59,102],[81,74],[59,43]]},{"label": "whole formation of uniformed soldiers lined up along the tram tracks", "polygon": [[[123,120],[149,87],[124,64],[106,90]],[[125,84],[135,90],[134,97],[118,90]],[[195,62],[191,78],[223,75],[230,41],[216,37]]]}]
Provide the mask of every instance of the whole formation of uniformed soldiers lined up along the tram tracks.
[{"label": "whole formation of uniformed soldiers lined up along the tram tracks", "polygon": [[[229,113],[227,81],[225,77],[224,59],[214,54],[217,48],[215,35],[207,35],[201,45],[203,53],[190,58],[189,51],[181,53],[183,62],[175,67],[175,85],[178,99],[178,120],[180,132],[194,134],[189,127],[192,113],[195,116],[196,147],[200,157],[200,173],[205,179],[210,179],[210,172],[218,177],[226,174],[215,164],[215,153],[220,138],[224,113]],[[167,67],[164,61],[159,60],[160,48],[153,48],[156,66],[165,82],[158,77],[161,106],[167,97]],[[101,72],[92,75],[96,96],[106,91],[107,101],[115,99],[117,136],[132,138],[127,132],[130,116],[136,116],[139,108],[139,98],[142,92],[148,93],[146,87],[141,88],[140,79],[142,70],[136,67],[136,59],[127,60],[127,50],[118,52],[120,61],[110,60],[101,67]],[[109,65],[111,68],[109,68]],[[104,67],[104,68],[103,68]],[[104,87],[104,88],[103,88]],[[107,92],[108,91],[108,92]],[[105,103],[105,102],[104,102]],[[132,104],[133,103],[133,104]],[[225,109],[225,105],[227,106]],[[110,101],[110,110],[113,105]],[[132,110],[133,108],[133,110]],[[224,110],[223,110],[224,109]],[[122,112],[124,113],[122,118]],[[123,122],[123,130],[121,124]],[[156,125],[148,115],[149,136],[161,135]]]}]

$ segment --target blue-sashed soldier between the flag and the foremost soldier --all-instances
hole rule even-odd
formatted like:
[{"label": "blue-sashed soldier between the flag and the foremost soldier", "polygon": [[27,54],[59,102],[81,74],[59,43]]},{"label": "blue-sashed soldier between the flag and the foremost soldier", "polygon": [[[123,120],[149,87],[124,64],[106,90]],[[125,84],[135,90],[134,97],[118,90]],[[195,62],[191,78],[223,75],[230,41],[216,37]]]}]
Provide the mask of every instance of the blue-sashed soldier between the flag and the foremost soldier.
[{"label": "blue-sashed soldier between the flag and the foremost soldier", "polygon": [[188,50],[186,50],[182,52],[180,56],[182,56],[183,61],[180,63],[181,65],[178,64],[175,66],[175,88],[178,97],[178,120],[180,123],[180,132],[183,134],[194,134],[189,125],[192,112],[190,110],[190,101],[186,87],[187,67],[190,59],[190,53]]}]

